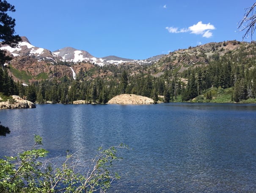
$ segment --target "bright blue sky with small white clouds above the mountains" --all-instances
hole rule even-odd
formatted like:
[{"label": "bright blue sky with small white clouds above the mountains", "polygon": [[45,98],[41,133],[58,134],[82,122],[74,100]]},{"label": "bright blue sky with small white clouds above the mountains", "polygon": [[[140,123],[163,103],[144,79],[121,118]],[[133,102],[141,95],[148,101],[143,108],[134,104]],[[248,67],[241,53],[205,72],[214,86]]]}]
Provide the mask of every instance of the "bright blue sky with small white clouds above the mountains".
[{"label": "bright blue sky with small white clouds above the mountains", "polygon": [[[146,59],[209,42],[242,41],[254,0],[7,0],[16,33],[34,46]],[[248,39],[250,41],[250,39]]]}]

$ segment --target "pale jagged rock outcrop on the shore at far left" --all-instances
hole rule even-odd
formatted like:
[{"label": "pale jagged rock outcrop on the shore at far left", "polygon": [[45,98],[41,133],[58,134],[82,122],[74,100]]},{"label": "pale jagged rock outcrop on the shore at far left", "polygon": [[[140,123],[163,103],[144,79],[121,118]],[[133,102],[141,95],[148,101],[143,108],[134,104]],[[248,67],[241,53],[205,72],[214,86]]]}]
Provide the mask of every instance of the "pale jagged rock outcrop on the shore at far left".
[{"label": "pale jagged rock outcrop on the shore at far left", "polygon": [[22,108],[36,108],[36,105],[30,101],[23,100],[19,96],[13,95],[14,103],[10,104],[9,101],[0,102],[0,109],[22,109]]}]

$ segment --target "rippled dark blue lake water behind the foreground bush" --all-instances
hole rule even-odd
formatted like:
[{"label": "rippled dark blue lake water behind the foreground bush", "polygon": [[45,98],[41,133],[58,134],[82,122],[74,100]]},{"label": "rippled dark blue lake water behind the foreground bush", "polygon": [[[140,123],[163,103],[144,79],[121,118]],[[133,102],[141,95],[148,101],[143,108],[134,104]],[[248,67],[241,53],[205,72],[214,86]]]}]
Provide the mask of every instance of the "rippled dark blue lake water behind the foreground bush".
[{"label": "rippled dark blue lake water behind the foreground bush", "polygon": [[0,110],[0,121],[11,129],[1,158],[28,149],[34,134],[49,157],[129,145],[110,193],[256,192],[255,104],[37,105]]}]

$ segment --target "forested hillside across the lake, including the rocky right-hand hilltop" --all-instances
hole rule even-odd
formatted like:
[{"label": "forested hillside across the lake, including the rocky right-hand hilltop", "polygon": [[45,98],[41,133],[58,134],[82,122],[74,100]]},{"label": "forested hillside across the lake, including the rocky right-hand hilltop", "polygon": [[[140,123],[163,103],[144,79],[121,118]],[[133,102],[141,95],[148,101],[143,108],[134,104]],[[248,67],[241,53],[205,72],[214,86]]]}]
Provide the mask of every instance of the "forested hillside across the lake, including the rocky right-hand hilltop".
[{"label": "forested hillside across the lake, including the rocky right-hand hilltop", "polygon": [[[98,66],[93,63],[55,63],[50,76],[24,86],[9,76],[10,68],[0,71],[0,92],[26,96],[32,102],[107,103],[119,94],[135,94],[154,101],[255,102],[256,43],[227,41],[177,50],[153,65],[122,63]],[[73,80],[58,72],[58,66],[77,71]],[[13,70],[13,69],[12,69]],[[14,76],[14,73],[12,73]],[[50,77],[50,78],[49,78]],[[17,77],[15,77],[17,79]],[[162,97],[161,97],[162,96]],[[225,100],[216,100],[224,96]]]}]

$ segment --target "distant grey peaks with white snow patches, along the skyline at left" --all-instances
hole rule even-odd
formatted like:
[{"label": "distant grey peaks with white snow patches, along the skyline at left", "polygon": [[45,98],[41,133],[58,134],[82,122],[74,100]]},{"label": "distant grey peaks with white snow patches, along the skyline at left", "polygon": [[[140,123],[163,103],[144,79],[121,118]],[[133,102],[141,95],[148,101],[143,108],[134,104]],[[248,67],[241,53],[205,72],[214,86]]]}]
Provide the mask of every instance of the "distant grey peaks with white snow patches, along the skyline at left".
[{"label": "distant grey peaks with white snow patches, along the skyline at left", "polygon": [[6,50],[7,54],[17,57],[17,56],[30,56],[36,58],[39,61],[47,61],[50,63],[57,63],[58,61],[62,62],[91,62],[96,65],[107,65],[107,64],[121,64],[125,62],[140,63],[140,64],[151,64],[152,62],[159,60],[163,55],[158,57],[152,57],[146,60],[133,60],[126,59],[116,56],[107,56],[102,58],[97,58],[91,55],[89,52],[84,50],[74,49],[72,47],[65,47],[58,49],[54,52],[51,52],[48,49],[40,48],[33,46],[28,38],[22,36],[22,41],[19,44],[12,48],[8,45],[1,45],[0,49]]}]

